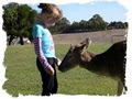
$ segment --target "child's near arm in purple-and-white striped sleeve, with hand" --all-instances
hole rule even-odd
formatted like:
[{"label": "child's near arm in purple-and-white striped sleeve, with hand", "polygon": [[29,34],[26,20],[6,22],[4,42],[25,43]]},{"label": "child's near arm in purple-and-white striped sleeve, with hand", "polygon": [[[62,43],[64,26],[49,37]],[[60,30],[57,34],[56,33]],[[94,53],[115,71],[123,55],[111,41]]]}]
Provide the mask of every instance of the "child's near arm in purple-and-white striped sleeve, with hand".
[{"label": "child's near arm in purple-and-white striped sleeve, with hand", "polygon": [[54,75],[54,69],[53,67],[48,64],[46,57],[44,56],[43,52],[42,52],[42,38],[41,37],[36,37],[33,40],[34,41],[34,50],[35,50],[35,53],[38,57],[38,59],[41,61],[44,69],[46,70],[46,73],[48,75]]}]

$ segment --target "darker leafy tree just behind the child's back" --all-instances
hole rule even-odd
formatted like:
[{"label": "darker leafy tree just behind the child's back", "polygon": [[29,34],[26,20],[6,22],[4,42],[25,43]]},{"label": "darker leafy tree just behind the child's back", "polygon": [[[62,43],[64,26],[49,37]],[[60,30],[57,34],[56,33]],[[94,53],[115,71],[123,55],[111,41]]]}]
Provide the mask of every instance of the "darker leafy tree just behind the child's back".
[{"label": "darker leafy tree just behind the child's back", "polygon": [[[25,36],[32,40],[32,25],[36,21],[36,11],[32,10],[28,4],[21,4],[18,9],[18,15],[20,37]],[[21,42],[21,44],[23,43]]]}]

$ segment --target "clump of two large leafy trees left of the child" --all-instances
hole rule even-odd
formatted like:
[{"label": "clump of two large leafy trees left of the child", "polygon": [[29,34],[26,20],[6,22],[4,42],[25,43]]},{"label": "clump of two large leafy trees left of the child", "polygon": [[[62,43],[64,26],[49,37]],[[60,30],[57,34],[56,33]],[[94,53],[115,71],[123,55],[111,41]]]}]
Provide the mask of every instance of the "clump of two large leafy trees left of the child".
[{"label": "clump of two large leafy trees left of the child", "polygon": [[32,26],[36,21],[37,12],[32,10],[28,4],[18,4],[11,2],[3,6],[3,30],[10,35],[10,42],[13,36],[20,36],[23,45],[23,36],[32,40]]}]

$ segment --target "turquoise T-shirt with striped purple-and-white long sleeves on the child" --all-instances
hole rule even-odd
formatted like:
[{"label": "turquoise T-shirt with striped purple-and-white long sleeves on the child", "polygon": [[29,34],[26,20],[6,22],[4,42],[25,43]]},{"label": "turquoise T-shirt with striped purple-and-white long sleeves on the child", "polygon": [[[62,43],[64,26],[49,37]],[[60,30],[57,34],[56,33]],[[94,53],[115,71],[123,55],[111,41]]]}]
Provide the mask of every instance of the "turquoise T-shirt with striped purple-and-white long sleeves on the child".
[{"label": "turquoise T-shirt with striped purple-and-white long sleeves on the child", "polygon": [[[33,26],[33,42],[34,51],[41,61],[44,69],[50,69],[52,66],[48,64],[46,57],[55,57],[55,47],[52,35],[44,24],[35,23]],[[57,58],[55,57],[57,62]]]}]

